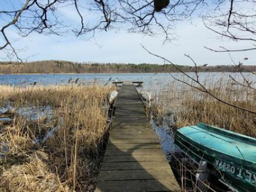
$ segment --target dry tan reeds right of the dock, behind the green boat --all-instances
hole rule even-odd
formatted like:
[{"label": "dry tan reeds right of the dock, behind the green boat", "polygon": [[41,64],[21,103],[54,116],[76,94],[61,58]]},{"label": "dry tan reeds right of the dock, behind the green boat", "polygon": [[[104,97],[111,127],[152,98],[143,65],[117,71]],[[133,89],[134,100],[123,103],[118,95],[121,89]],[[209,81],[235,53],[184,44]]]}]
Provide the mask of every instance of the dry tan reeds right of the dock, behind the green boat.
[{"label": "dry tan reeds right of the dock, behind the green boat", "polygon": [[[218,84],[210,85],[209,90],[226,102],[256,112],[255,90],[233,85],[229,80],[219,80]],[[230,107],[188,85],[171,84],[169,90],[158,93],[157,98],[153,111],[158,121],[168,117],[173,111],[176,127],[202,122],[256,137],[255,114]]]}]

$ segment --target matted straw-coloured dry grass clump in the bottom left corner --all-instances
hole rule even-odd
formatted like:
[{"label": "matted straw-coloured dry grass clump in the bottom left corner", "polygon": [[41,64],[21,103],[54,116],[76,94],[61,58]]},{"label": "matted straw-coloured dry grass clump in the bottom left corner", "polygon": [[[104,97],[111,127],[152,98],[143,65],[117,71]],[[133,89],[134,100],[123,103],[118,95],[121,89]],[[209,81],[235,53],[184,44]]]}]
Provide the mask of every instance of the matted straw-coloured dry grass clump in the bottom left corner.
[{"label": "matted straw-coloured dry grass clump in the bottom left corner", "polygon": [[52,173],[45,152],[36,151],[28,157],[29,162],[13,165],[4,170],[1,178],[2,190],[10,191],[70,191],[63,187],[58,174]]}]

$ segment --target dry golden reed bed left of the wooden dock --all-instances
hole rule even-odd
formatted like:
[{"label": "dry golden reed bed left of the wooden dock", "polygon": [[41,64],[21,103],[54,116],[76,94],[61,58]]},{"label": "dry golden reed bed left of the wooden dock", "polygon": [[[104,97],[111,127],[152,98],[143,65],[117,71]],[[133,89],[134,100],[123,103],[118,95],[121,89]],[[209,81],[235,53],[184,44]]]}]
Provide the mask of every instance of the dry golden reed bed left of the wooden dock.
[{"label": "dry golden reed bed left of the wooden dock", "polygon": [[[108,133],[110,88],[95,84],[0,90],[0,105],[14,107],[13,120],[0,124],[0,191],[93,191]],[[15,113],[24,106],[51,106],[53,113],[28,121]]]}]

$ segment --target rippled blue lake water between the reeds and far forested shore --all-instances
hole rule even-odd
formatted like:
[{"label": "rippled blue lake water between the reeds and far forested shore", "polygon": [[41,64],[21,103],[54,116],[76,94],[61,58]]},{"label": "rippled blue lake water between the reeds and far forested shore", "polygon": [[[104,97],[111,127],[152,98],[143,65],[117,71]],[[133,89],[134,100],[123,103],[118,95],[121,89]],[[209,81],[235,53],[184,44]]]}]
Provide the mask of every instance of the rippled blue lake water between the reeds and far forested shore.
[{"label": "rippled blue lake water between the reeds and far forested shore", "polygon": [[[188,75],[195,77],[194,73]],[[247,79],[256,82],[256,75],[252,73],[244,73]],[[0,84],[2,85],[62,85],[62,84],[90,84],[99,83],[106,84],[109,81],[118,80],[140,80],[144,81],[144,88],[155,90],[165,88],[166,85],[177,82],[172,78],[176,77],[180,80],[190,82],[184,74],[181,73],[101,73],[101,74],[0,74]],[[240,73],[199,73],[199,79],[205,84],[219,84],[227,82],[232,76],[236,80],[243,82]]]}]

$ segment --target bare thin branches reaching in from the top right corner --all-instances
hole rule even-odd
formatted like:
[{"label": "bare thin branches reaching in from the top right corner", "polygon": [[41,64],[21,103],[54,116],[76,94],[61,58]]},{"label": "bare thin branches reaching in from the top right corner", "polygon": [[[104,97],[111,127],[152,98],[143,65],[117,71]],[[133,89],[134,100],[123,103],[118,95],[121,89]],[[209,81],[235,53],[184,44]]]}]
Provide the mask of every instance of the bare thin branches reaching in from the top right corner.
[{"label": "bare thin branches reaching in from the top right corner", "polygon": [[256,1],[229,0],[216,7],[215,12],[203,16],[205,27],[221,37],[233,41],[247,41],[248,47],[242,49],[207,48],[215,52],[239,52],[256,50]]}]

